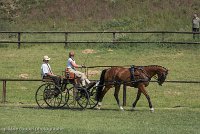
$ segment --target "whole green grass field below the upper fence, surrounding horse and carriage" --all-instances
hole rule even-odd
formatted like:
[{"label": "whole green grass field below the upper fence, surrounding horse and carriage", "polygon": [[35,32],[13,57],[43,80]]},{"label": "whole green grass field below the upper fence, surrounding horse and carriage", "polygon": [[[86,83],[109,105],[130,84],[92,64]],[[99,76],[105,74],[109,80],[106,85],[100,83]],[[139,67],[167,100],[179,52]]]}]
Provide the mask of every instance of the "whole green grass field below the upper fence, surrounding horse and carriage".
[{"label": "whole green grass field below the upper fence, surrounding horse and carriage", "polygon": [[[82,53],[93,49],[95,53]],[[76,62],[94,65],[162,65],[169,69],[167,80],[199,80],[198,45],[118,45],[92,44],[70,46],[25,45],[0,47],[0,78],[40,78],[42,57],[51,57],[56,74],[65,68],[68,52],[74,50]],[[95,68],[100,71],[103,68]],[[82,70],[84,71],[84,70]],[[92,70],[91,70],[92,71]],[[91,76],[98,79],[100,74]],[[148,92],[155,112],[149,112],[144,96],[131,111],[135,89],[127,91],[125,111],[119,111],[110,90],[102,110],[38,109],[34,94],[41,82],[8,82],[7,103],[0,103],[0,133],[180,133],[198,134],[200,118],[199,84],[150,83]],[[2,87],[2,83],[0,83]],[[122,98],[122,92],[120,93]],[[1,98],[0,98],[1,99]],[[121,99],[122,100],[122,99]]]}]

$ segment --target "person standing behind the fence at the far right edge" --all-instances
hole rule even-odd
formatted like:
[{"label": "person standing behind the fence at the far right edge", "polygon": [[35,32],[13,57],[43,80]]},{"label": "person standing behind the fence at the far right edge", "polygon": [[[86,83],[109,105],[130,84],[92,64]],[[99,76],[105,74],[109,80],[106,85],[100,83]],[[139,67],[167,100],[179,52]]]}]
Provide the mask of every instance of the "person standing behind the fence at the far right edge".
[{"label": "person standing behind the fence at the far right edge", "polygon": [[197,16],[197,14],[194,14],[194,17],[192,19],[193,39],[195,39],[196,37],[199,39],[199,34],[196,33],[199,32],[199,23],[200,23],[199,17]]}]

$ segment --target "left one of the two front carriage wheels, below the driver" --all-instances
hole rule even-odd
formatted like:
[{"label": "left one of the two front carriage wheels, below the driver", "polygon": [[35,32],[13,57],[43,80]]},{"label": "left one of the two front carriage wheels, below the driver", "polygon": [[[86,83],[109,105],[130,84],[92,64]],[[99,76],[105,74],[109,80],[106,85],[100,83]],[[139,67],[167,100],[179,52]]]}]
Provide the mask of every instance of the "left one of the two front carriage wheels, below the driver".
[{"label": "left one of the two front carriage wheels, below the driver", "polygon": [[[78,87],[71,87],[69,89],[69,96],[67,97],[66,94],[66,102],[69,108],[81,108],[85,109],[89,103],[89,95],[84,88]],[[67,100],[68,99],[68,100]]]}]

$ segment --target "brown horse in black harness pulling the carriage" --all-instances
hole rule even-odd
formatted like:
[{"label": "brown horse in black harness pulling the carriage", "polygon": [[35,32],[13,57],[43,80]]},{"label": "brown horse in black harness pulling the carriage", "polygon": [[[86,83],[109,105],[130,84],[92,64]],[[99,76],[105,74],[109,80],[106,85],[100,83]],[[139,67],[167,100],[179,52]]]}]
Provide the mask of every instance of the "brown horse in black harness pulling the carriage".
[{"label": "brown horse in black harness pulling the carriage", "polygon": [[150,110],[152,112],[154,111],[150,96],[148,95],[145,87],[149,85],[149,81],[152,77],[157,77],[158,84],[162,85],[166,79],[168,70],[158,65],[135,66],[133,69],[134,72],[130,71],[130,68],[112,67],[110,69],[105,69],[102,71],[96,96],[96,99],[98,101],[98,109],[100,109],[101,107],[101,102],[106,92],[110,88],[115,87],[115,99],[119,108],[123,110],[123,107],[120,105],[119,102],[118,94],[120,90],[120,85],[126,84],[126,86],[138,88],[136,100],[132,104],[133,109],[140,99],[141,93],[143,93],[148,100]]}]

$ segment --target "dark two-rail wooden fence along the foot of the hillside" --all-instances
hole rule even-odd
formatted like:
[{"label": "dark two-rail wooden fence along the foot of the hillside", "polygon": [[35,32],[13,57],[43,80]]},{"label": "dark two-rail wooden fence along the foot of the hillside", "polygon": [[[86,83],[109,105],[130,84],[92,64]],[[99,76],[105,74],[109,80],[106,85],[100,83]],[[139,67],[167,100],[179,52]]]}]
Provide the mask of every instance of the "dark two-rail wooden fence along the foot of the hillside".
[{"label": "dark two-rail wooden fence along the foot of the hillside", "polygon": [[[16,41],[11,40],[1,40],[0,38],[0,44],[2,43],[14,43],[18,44],[18,48],[21,47],[21,44],[27,43],[27,44],[65,44],[65,46],[68,45],[68,43],[164,43],[164,44],[200,44],[200,42],[193,41],[165,41],[166,34],[200,34],[200,32],[174,32],[174,31],[143,31],[143,32],[134,32],[134,31],[0,31],[0,34],[16,34]],[[62,41],[22,41],[22,35],[24,34],[62,34],[64,35],[64,40]],[[111,41],[69,41],[69,35],[70,34],[112,34]],[[116,39],[116,34],[160,34],[161,39],[159,41],[134,41],[134,40],[125,40],[125,41],[119,41]]]}]

